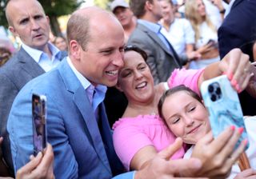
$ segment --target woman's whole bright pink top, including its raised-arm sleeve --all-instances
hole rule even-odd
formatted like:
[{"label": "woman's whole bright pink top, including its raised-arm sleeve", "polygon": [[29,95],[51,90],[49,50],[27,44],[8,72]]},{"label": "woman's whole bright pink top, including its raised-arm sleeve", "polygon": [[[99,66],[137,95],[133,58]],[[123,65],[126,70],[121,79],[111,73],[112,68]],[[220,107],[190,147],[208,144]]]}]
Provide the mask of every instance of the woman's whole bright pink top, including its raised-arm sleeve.
[{"label": "woman's whole bright pink top, including its raised-arm sleeve", "polygon": [[[199,93],[198,78],[203,70],[174,70],[168,80],[170,88],[185,85]],[[139,149],[153,145],[159,152],[174,142],[174,134],[166,127],[158,115],[139,115],[138,117],[125,117],[113,125],[114,149],[122,164],[130,169],[130,161]],[[184,149],[178,150],[171,157],[182,158]]]}]

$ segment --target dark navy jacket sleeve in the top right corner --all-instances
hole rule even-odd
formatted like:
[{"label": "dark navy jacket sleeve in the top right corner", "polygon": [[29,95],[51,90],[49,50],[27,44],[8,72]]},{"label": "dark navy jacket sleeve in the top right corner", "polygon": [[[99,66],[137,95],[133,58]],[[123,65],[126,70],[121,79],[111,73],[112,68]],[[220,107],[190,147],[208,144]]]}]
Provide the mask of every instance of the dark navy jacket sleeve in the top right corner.
[{"label": "dark navy jacket sleeve in the top right corner", "polygon": [[218,29],[218,46],[223,58],[230,50],[240,48],[244,53],[252,55],[246,47],[248,42],[256,39],[256,1],[236,0]]}]

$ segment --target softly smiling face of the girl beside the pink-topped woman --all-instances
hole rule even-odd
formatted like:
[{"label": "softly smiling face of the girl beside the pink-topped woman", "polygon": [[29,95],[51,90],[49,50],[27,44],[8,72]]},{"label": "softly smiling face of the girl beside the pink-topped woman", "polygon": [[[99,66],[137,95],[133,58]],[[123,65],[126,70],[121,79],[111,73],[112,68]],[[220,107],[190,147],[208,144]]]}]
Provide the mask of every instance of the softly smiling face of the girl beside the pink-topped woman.
[{"label": "softly smiling face of the girl beside the pink-topped woman", "polygon": [[162,116],[174,135],[182,137],[187,144],[195,144],[210,131],[206,108],[184,90],[166,97],[162,105]]}]

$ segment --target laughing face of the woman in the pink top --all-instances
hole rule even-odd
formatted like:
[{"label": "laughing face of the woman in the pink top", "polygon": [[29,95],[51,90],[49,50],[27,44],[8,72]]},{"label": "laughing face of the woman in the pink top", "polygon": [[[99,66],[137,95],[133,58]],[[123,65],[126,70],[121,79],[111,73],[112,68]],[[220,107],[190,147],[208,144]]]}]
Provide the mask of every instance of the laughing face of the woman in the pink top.
[{"label": "laughing face of the woman in the pink top", "polygon": [[154,98],[154,80],[141,54],[133,50],[125,53],[125,65],[118,74],[118,88],[128,101],[146,103]]}]

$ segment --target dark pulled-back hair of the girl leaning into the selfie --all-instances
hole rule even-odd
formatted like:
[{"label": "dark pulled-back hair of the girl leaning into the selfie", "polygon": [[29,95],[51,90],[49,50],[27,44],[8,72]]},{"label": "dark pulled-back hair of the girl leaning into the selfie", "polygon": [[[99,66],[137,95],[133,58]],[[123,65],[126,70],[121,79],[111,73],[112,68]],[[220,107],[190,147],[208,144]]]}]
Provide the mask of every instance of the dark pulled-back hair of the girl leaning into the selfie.
[{"label": "dark pulled-back hair of the girl leaning into the selfie", "polygon": [[162,97],[160,98],[159,102],[158,102],[158,113],[159,116],[162,118],[162,120],[166,121],[165,118],[162,115],[162,105],[163,103],[166,101],[166,97],[169,97],[170,95],[180,92],[180,91],[185,91],[186,93],[188,93],[191,97],[193,97],[194,99],[196,99],[197,101],[199,101],[201,104],[202,103],[202,98],[199,97],[198,93],[195,93],[193,90],[191,90],[189,87],[186,87],[184,85],[181,86],[175,86],[174,88],[170,89],[170,90],[166,90],[165,93],[162,94]]}]

